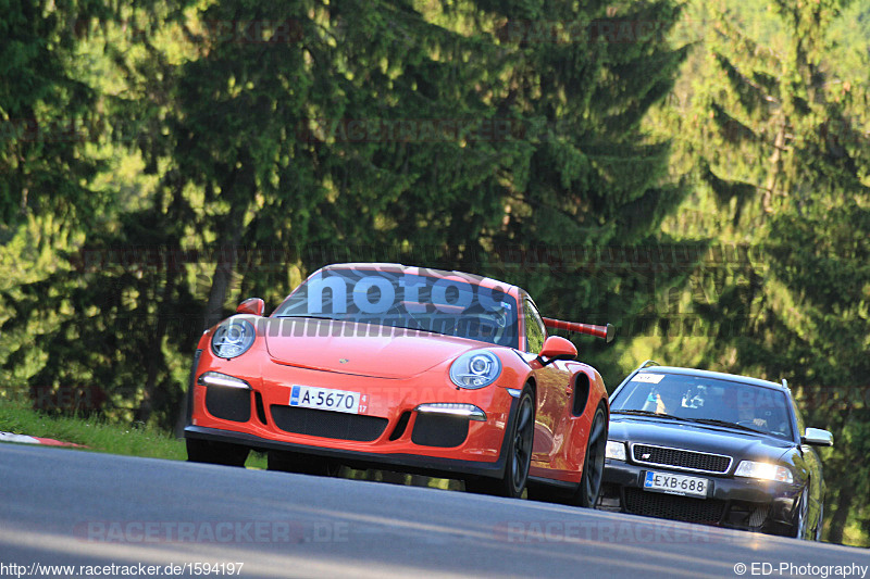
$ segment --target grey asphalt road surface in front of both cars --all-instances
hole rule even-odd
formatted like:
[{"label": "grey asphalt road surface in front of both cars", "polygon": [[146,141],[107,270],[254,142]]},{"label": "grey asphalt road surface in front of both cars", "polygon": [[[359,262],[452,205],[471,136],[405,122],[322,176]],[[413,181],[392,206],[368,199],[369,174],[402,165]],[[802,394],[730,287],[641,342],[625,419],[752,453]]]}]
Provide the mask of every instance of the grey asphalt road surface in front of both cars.
[{"label": "grey asphalt road surface in front of both cars", "polygon": [[0,577],[223,577],[231,563],[246,578],[720,578],[741,564],[746,577],[843,576],[821,566],[861,577],[870,553],[462,492],[0,444]]}]

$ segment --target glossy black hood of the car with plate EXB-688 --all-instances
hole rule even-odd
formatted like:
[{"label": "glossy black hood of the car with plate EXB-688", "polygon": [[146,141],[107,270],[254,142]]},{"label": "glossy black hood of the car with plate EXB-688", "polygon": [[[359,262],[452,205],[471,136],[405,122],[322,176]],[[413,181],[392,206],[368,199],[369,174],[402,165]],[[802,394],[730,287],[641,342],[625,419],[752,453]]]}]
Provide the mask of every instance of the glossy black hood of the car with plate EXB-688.
[{"label": "glossy black hood of the car with plate EXB-688", "polygon": [[[776,461],[794,443],[768,435],[672,419],[620,416],[610,419],[610,440],[733,456],[735,461]],[[734,463],[736,464],[736,463]]]}]

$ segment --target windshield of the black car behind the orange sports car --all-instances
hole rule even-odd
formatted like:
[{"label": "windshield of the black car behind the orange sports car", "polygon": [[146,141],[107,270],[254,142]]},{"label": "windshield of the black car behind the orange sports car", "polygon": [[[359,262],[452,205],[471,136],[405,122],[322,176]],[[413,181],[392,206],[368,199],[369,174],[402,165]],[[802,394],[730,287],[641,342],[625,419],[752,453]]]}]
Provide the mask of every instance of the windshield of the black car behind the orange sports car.
[{"label": "windshield of the black car behind the orange sports car", "polygon": [[654,369],[635,374],[610,401],[612,414],[667,415],[792,440],[788,408],[785,392],[773,388]]}]

